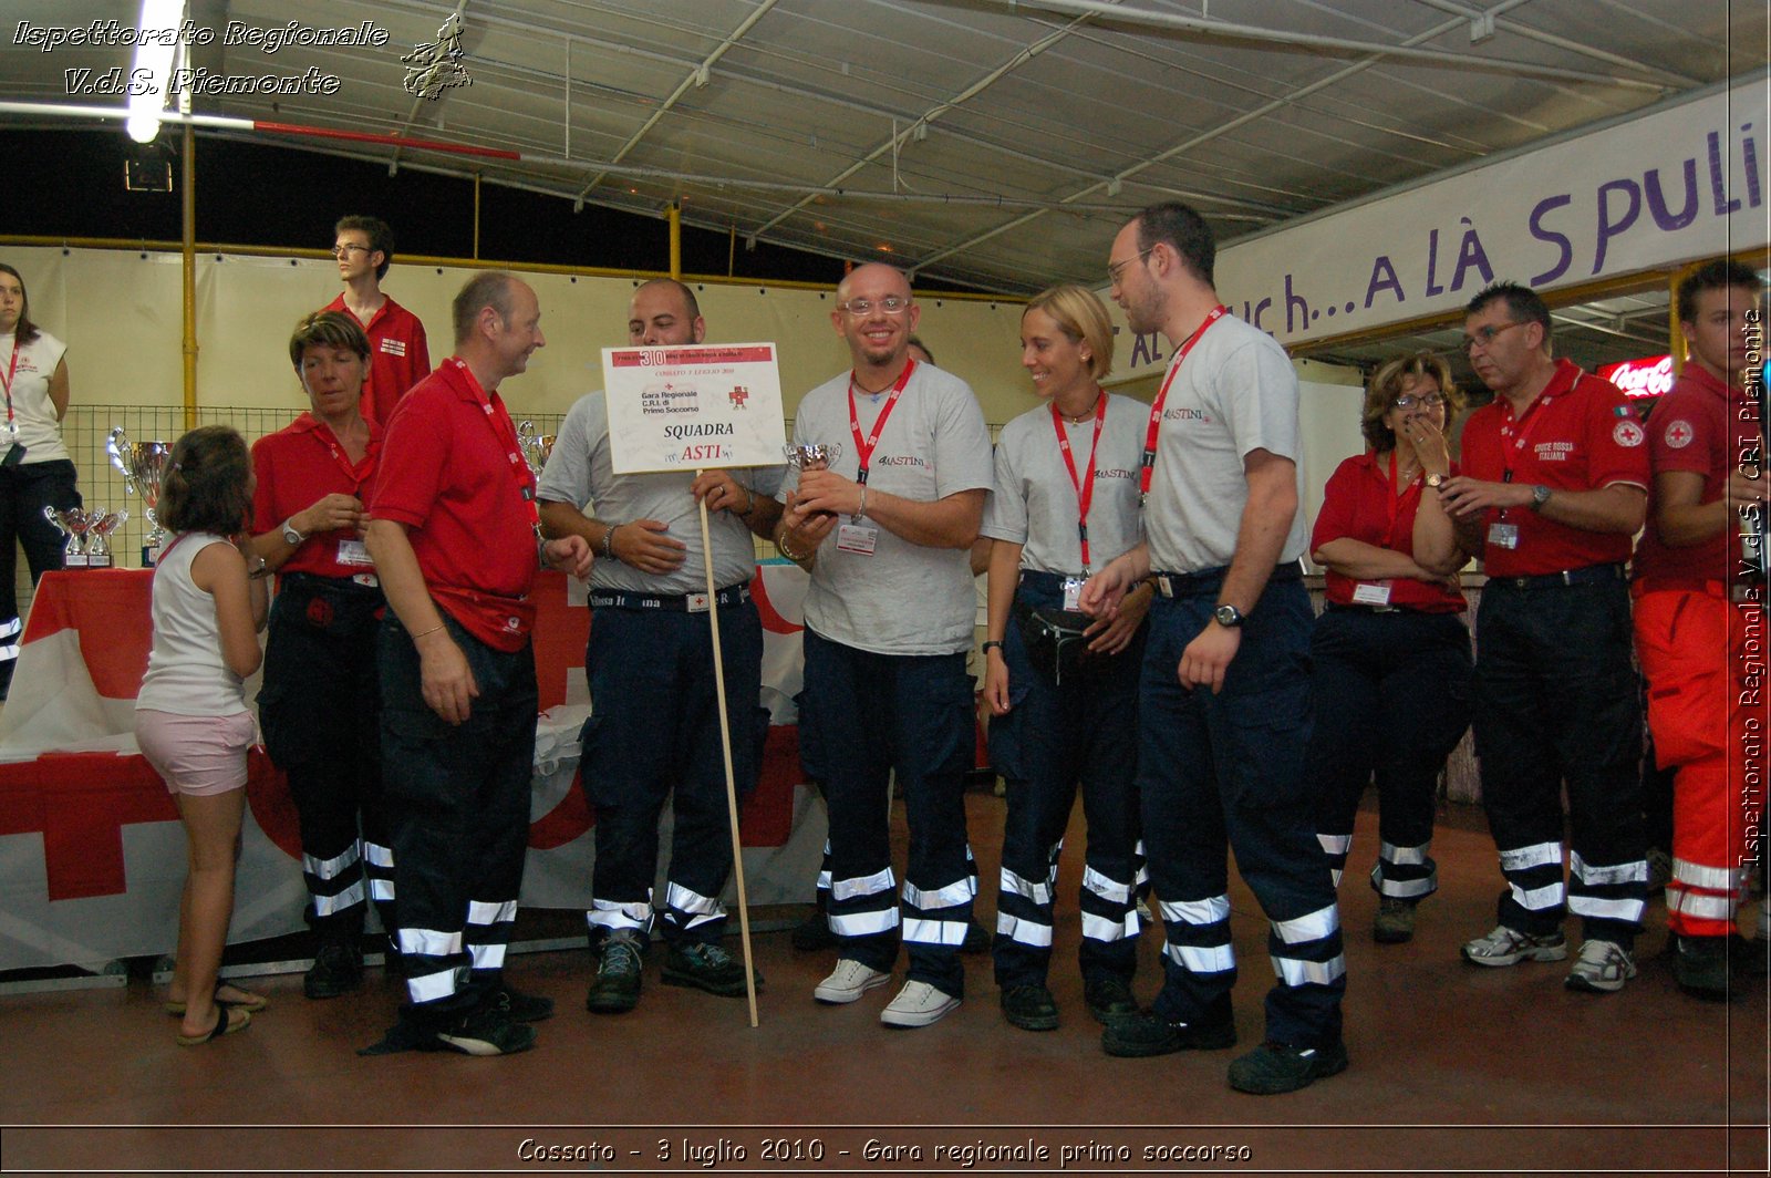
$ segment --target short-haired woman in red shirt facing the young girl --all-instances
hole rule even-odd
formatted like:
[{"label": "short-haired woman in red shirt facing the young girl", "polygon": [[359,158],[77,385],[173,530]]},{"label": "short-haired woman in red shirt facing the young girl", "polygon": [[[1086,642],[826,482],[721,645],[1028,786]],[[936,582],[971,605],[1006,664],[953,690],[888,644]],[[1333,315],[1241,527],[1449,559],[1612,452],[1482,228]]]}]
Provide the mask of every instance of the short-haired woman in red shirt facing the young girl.
[{"label": "short-haired woman in red shirt facing the young girl", "polygon": [[251,446],[251,547],[278,574],[259,721],[301,824],[306,918],[317,941],[303,992],[322,999],[363,983],[370,898],[381,923],[395,926],[375,675],[384,602],[361,531],[381,430],[360,411],[368,340],[354,319],[303,317],[289,360],[308,411]]}]

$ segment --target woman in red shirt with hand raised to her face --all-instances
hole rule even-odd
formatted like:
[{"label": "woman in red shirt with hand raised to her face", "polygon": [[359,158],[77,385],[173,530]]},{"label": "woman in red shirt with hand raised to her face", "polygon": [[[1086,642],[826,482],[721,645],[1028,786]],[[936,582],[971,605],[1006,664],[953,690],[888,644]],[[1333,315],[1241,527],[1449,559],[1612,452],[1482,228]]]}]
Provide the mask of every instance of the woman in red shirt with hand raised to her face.
[{"label": "woman in red shirt with hand raised to her face", "polygon": [[1470,726],[1468,604],[1456,572],[1470,556],[1438,487],[1456,473],[1445,425],[1463,407],[1433,353],[1397,356],[1371,377],[1360,429],[1371,448],[1335,469],[1311,533],[1328,604],[1311,632],[1316,725],[1305,779],[1318,781],[1316,838],[1335,882],[1353,817],[1378,781],[1373,937],[1415,934],[1415,905],[1438,891],[1433,811],[1445,758]]}]

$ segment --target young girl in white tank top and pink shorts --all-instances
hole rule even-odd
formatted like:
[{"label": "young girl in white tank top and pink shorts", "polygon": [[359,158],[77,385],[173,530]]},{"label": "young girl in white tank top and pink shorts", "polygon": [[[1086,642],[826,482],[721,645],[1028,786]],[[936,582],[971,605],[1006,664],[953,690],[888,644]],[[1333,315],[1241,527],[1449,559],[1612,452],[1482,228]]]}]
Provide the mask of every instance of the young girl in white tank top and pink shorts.
[{"label": "young girl in white tank top and pink shorts", "polygon": [[234,864],[253,739],[243,680],[259,670],[264,560],[244,556],[251,459],[225,425],[174,446],[156,515],[175,535],[154,569],[154,647],[135,700],[135,737],[166,779],[188,840],[179,951],[166,1011],[195,1047],[251,1022],[264,999],[216,980],[234,916]]}]

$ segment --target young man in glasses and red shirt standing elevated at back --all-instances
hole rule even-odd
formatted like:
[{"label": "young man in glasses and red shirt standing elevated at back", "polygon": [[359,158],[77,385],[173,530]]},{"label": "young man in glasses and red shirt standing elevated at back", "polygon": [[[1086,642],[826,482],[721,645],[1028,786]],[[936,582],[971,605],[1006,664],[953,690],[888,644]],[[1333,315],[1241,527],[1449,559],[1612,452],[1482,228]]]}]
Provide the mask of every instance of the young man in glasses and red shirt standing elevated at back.
[{"label": "young man in glasses and red shirt standing elevated at back", "polygon": [[340,218],[333,229],[333,257],[344,292],[324,310],[351,315],[368,337],[363,416],[386,430],[400,397],[430,376],[425,324],[381,291],[393,264],[393,230],[379,216]]}]

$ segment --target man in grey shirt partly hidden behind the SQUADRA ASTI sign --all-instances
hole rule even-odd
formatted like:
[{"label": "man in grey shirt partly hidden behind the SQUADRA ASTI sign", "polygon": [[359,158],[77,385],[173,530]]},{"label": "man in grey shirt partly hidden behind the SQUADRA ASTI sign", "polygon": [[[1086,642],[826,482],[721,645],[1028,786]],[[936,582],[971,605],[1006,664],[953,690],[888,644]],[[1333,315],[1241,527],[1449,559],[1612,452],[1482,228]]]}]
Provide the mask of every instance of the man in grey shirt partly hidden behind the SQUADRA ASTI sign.
[{"label": "man in grey shirt partly hidden behind the SQUADRA ASTI sign", "polygon": [[[634,291],[634,345],[700,344],[707,335],[694,292],[671,278]],[[744,997],[744,965],[719,939],[719,902],[731,872],[724,758],[708,609],[719,609],[731,767],[739,790],[756,783],[769,714],[758,705],[762,622],[751,602],[751,533],[772,535],[781,515],[781,468],[696,475],[616,475],[607,393],[572,406],[538,498],[549,535],[581,535],[599,560],[592,574],[592,717],[583,733],[584,794],[597,811],[592,907],[584,914],[597,976],[593,1013],[639,1003],[641,951],[652,932],[659,815],[675,813],[662,932],[664,981]],[[707,593],[700,505],[710,512],[714,599]],[[592,515],[584,514],[590,505]]]}]

